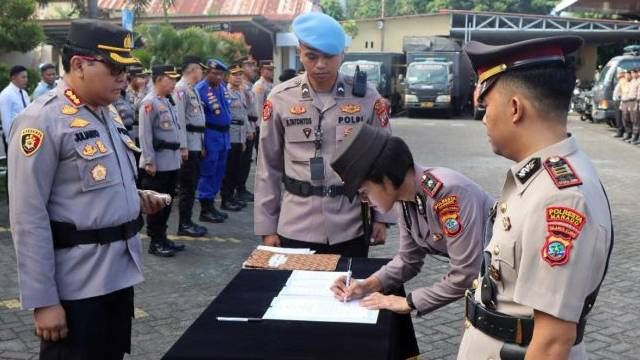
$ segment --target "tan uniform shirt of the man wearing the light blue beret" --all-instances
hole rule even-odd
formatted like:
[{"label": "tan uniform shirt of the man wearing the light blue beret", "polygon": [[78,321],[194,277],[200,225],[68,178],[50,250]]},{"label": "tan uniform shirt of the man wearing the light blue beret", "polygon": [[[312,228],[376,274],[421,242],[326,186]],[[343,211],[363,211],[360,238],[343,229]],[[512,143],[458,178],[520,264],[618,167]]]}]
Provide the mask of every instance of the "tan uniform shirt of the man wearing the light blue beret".
[{"label": "tan uniform shirt of the man wearing the light blue beret", "polygon": [[[256,235],[281,236],[312,243],[338,244],[363,235],[360,202],[345,196],[301,197],[283,190],[283,175],[314,186],[341,185],[330,166],[338,144],[361,121],[389,128],[382,97],[369,86],[365,97],[351,94],[352,77],[339,74],[327,103],[308,83],[306,75],[277,85],[265,103],[260,126],[254,207]],[[315,131],[322,115],[325,178],[311,181],[309,159],[314,157]],[[395,222],[394,214],[384,222]]]}]

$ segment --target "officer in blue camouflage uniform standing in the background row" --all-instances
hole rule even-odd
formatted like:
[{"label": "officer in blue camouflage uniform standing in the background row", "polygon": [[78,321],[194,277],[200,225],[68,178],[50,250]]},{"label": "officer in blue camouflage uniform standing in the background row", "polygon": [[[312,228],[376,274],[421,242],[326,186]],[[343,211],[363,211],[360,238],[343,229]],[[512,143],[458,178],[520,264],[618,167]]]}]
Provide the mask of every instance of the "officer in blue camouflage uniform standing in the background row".
[{"label": "officer in blue camouflage uniform standing in the background row", "polygon": [[229,126],[231,111],[229,93],[224,83],[227,66],[220,60],[207,60],[207,76],[196,85],[205,115],[204,147],[205,157],[200,167],[198,180],[198,200],[200,200],[200,221],[221,223],[228,215],[218,211],[214,205],[220,191],[222,177],[227,164],[227,154],[231,149]]}]

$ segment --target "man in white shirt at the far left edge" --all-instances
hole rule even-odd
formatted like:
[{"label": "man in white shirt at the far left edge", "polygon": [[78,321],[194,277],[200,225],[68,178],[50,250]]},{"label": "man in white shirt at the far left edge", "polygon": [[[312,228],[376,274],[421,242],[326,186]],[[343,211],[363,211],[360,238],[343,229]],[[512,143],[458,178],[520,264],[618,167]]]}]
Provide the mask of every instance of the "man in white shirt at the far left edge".
[{"label": "man in white shirt at the far left edge", "polygon": [[27,68],[16,65],[9,71],[9,76],[11,82],[0,92],[0,117],[2,118],[2,141],[4,142],[5,154],[7,153],[6,135],[9,134],[11,123],[30,103],[26,90],[29,82]]}]

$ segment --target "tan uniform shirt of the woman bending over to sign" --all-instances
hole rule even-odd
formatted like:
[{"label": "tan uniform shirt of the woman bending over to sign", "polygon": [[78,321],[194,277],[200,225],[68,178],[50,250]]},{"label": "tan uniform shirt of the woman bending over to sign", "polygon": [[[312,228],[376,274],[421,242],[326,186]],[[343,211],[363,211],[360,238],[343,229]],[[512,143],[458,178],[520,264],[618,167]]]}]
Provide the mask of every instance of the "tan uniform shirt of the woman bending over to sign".
[{"label": "tan uniform shirt of the woman bending over to sign", "polygon": [[373,276],[389,292],[415,277],[427,254],[448,257],[446,275],[411,292],[418,315],[424,315],[461,298],[471,287],[480,270],[486,219],[494,200],[451,169],[416,165],[414,170],[420,203],[396,205],[400,248]]}]

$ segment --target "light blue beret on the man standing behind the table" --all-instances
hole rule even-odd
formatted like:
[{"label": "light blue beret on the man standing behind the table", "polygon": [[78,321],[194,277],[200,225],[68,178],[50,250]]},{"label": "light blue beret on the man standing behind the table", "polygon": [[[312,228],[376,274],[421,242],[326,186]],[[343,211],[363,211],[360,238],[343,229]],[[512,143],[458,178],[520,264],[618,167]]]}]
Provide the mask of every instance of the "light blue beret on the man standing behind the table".
[{"label": "light blue beret on the man standing behind the table", "polygon": [[345,36],[342,26],[331,16],[308,12],[293,20],[293,32],[298,41],[328,55],[344,50]]}]

